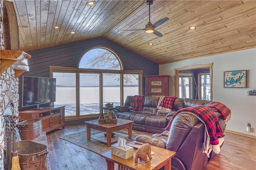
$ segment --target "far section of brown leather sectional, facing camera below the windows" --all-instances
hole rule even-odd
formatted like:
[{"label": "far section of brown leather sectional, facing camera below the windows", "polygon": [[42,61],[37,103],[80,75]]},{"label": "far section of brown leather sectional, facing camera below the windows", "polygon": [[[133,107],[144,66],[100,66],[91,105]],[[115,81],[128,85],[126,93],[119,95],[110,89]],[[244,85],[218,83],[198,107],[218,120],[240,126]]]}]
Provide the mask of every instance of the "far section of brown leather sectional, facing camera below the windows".
[{"label": "far section of brown leather sectional, facing camera below the windows", "polygon": [[160,112],[157,105],[160,97],[145,97],[143,109],[141,112],[134,112],[134,108],[130,106],[132,96],[127,96],[124,106],[117,106],[114,110],[114,116],[120,119],[134,121],[132,128],[150,133],[162,133],[172,115],[183,108],[183,99],[177,98],[172,107],[172,112]]}]

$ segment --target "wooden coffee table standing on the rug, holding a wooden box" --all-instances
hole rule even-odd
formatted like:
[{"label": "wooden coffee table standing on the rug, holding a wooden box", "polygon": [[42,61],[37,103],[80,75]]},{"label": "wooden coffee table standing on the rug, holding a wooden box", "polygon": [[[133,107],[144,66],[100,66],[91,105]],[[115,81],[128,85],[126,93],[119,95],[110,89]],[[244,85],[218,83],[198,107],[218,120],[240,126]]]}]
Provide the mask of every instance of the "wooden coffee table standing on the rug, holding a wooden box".
[{"label": "wooden coffee table standing on the rug, holding a wooden box", "polygon": [[[111,143],[117,142],[118,136],[121,138],[129,138],[132,139],[132,123],[134,121],[129,121],[125,119],[117,119],[117,123],[98,123],[98,119],[93,121],[86,121],[86,132],[87,132],[87,140],[91,138],[95,140],[99,140],[107,144],[108,147],[111,146]],[[91,128],[95,130],[100,130],[102,133],[92,135],[91,136]],[[128,135],[118,133],[116,131],[122,129],[128,129]],[[106,136],[104,136],[104,132],[106,132]],[[115,132],[115,135],[112,136],[112,132]]]}]

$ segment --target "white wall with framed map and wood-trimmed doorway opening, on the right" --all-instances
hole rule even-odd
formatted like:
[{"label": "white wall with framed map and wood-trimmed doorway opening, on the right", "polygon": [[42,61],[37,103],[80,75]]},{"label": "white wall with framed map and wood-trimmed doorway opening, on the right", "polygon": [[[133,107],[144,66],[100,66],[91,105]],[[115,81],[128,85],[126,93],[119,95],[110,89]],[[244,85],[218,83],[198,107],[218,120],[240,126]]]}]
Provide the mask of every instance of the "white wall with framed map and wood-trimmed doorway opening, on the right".
[{"label": "white wall with framed map and wood-trimmed doorway opening, on the right", "polygon": [[[175,95],[174,68],[212,65],[212,100],[224,103],[232,115],[226,129],[256,136],[256,96],[246,96],[246,90],[256,89],[256,48],[200,57],[159,66],[160,75],[170,75],[169,95]],[[224,71],[248,70],[248,88],[224,88]],[[247,123],[252,132],[246,132]]]}]

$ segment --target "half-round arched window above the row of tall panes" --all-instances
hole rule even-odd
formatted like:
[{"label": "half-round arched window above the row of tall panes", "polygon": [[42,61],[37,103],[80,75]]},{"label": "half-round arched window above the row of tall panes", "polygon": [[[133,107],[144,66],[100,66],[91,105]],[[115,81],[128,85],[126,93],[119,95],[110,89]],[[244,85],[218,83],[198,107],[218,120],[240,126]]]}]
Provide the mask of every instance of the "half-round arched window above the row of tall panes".
[{"label": "half-round arched window above the row of tall panes", "polygon": [[84,53],[78,68],[122,70],[122,62],[120,62],[118,55],[109,49],[96,47]]}]

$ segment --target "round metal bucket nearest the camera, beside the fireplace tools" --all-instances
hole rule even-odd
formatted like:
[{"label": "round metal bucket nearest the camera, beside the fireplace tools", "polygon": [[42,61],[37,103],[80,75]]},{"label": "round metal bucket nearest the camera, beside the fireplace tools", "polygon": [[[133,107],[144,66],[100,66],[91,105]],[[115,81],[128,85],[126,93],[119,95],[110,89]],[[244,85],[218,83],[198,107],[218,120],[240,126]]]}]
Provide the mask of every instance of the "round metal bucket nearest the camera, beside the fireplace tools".
[{"label": "round metal bucket nearest the camera, beside the fireplace tools", "polygon": [[[16,151],[19,156],[21,170],[46,170],[48,146],[30,140],[16,142]],[[4,154],[6,148],[4,147]],[[4,155],[4,159],[5,155]]]}]

